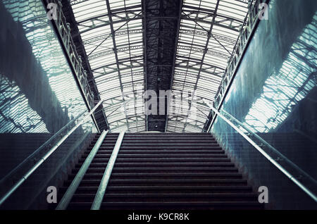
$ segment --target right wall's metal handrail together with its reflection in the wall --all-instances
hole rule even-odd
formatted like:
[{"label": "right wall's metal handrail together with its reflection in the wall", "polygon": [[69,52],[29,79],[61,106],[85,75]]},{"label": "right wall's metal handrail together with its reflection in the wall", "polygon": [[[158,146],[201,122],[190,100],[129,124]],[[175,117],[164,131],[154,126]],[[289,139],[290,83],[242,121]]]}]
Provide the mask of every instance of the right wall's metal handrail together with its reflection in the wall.
[{"label": "right wall's metal handrail together with its reflection in the wall", "polygon": [[[256,133],[254,133],[253,131],[251,131],[249,129],[249,127],[247,127],[246,125],[244,125],[243,123],[241,123],[239,120],[237,120],[235,117],[233,117],[230,113],[228,113],[227,111],[221,109],[221,111],[223,113],[225,113],[226,116],[228,116],[229,118],[226,118],[225,116],[223,116],[223,114],[221,114],[216,108],[214,108],[213,106],[211,106],[211,104],[209,104],[208,101],[206,101],[206,99],[204,99],[204,103],[209,106],[209,108],[211,108],[211,110],[216,113],[220,118],[223,118],[223,120],[225,120],[226,123],[228,123],[228,125],[230,125],[233,129],[235,129],[240,135],[242,135],[242,137],[244,137],[244,139],[246,139],[254,148],[256,148],[264,157],[266,157],[268,159],[268,161],[270,161],[271,163],[273,163],[273,165],[278,168],[282,173],[284,173],[287,178],[289,178],[290,180],[292,180],[292,182],[295,183],[295,185],[297,185],[299,188],[301,188],[306,194],[309,195],[309,197],[311,197],[311,199],[313,199],[314,201],[317,202],[317,196],[316,194],[314,194],[313,192],[311,192],[310,189],[308,189],[306,186],[304,186],[301,182],[299,182],[299,180],[297,180],[297,178],[294,177],[294,175],[292,175],[290,172],[288,172],[285,168],[283,168],[280,163],[278,163],[274,158],[272,158],[270,155],[268,155],[266,153],[266,151],[264,151],[261,147],[266,146],[269,149],[271,149],[272,151],[274,151],[276,154],[278,154],[278,156],[280,156],[283,160],[285,160],[287,163],[289,163],[293,168],[295,168],[297,171],[299,171],[299,173],[301,173],[304,177],[308,178],[309,180],[311,180],[314,184],[316,184],[316,180],[313,179],[308,173],[306,173],[304,170],[302,170],[301,168],[299,168],[296,164],[294,164],[292,161],[290,161],[286,156],[284,156],[283,154],[280,153],[280,151],[278,151],[277,149],[275,149],[273,146],[271,146],[271,144],[268,144],[268,142],[266,142],[263,138],[261,138],[259,135],[256,135]],[[247,133],[243,132],[240,127],[238,127],[237,125],[233,124],[232,121],[235,121],[238,125],[240,125],[240,127],[242,127],[244,130],[247,131]],[[256,142],[254,142],[249,136],[253,135],[254,137],[256,137],[256,139],[258,139],[263,146],[260,147],[259,144],[256,144]]]}]

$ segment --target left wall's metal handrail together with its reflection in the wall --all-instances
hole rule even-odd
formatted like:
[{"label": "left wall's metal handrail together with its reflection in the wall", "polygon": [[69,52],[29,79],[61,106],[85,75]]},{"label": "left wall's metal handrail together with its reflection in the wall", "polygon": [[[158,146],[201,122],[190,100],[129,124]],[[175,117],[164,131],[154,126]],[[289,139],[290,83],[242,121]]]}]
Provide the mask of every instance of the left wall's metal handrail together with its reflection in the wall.
[{"label": "left wall's metal handrail together with its reflection in the wall", "polygon": [[[23,175],[22,178],[20,178],[17,182],[15,182],[15,184],[13,185],[13,187],[11,187],[5,194],[3,197],[1,197],[0,199],[0,206],[2,204],[4,204],[4,201],[6,201],[6,199],[8,199],[8,197],[11,196],[11,194],[13,194],[13,192],[15,192],[16,189],[18,189],[18,187],[20,187],[20,185],[23,184],[23,182],[25,182],[25,180],[27,180],[27,178],[30,177],[30,175],[32,175],[32,173],[35,172],[35,170],[37,170],[37,168],[39,168],[39,166],[41,166],[42,163],[44,163],[44,161],[46,161],[47,158],[49,158],[49,156],[51,156],[51,154],[54,153],[54,151],[56,151],[56,149],[58,149],[59,146],[61,146],[61,144],[63,142],[65,142],[65,140],[77,129],[77,127],[80,127],[80,125],[82,125],[83,123],[85,123],[90,116],[92,115],[92,113],[94,113],[94,111],[96,111],[96,109],[100,106],[100,104],[103,102],[103,100],[99,101],[99,103],[94,106],[94,108],[92,108],[92,110],[85,115],[82,120],[80,120],[73,128],[71,128],[66,135],[64,135],[63,137],[61,137],[61,139],[54,144],[53,147],[51,147],[51,149],[49,149],[49,151],[46,152],[46,154],[44,156],[42,156],[42,158],[39,159],[39,161],[37,161],[37,163],[35,163],[34,166],[32,166],[32,168],[30,168],[29,170],[27,170],[27,172]],[[76,116],[73,120],[70,120],[70,122],[68,124],[66,124],[64,127],[61,128],[61,130],[58,130],[58,132],[56,132],[55,135],[53,135],[49,140],[47,140],[46,142],[44,142],[44,144],[42,144],[41,147],[39,147],[34,153],[32,153],[30,156],[28,156],[27,158],[25,158],[25,160],[20,163],[16,168],[14,168],[10,173],[8,173],[8,175],[6,175],[5,178],[3,178],[1,180],[1,182],[4,182],[4,180],[8,180],[9,176],[12,176],[13,173],[16,173],[18,170],[20,170],[20,168],[27,163],[27,161],[30,161],[30,159],[32,159],[32,157],[37,154],[39,151],[42,151],[42,149],[44,149],[45,147],[49,146],[49,143],[55,139],[58,135],[61,135],[61,132],[63,132],[63,130],[66,130],[66,128],[70,127],[70,125],[72,125],[75,120],[78,120],[85,112],[84,111],[82,113],[80,113],[80,115]]]}]

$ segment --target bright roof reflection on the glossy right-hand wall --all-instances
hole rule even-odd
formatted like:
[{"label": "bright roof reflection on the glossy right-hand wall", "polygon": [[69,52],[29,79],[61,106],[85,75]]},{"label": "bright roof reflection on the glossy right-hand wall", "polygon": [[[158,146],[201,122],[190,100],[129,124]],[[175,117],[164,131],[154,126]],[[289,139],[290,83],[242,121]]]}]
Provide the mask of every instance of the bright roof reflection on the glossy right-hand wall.
[{"label": "bright roof reflection on the glossy right-hand wall", "polygon": [[317,14],[291,47],[278,73],[265,82],[261,96],[254,101],[244,124],[254,132],[270,132],[292,112],[294,106],[316,87]]}]

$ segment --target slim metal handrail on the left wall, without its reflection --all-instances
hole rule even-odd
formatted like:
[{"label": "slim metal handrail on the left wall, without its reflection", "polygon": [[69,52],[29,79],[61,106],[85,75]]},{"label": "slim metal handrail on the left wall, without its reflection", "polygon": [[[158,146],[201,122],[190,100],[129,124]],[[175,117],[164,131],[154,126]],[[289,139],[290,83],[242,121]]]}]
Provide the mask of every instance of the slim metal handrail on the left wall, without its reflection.
[{"label": "slim metal handrail on the left wall, without its reflection", "polygon": [[11,194],[13,194],[13,192],[15,192],[16,189],[18,189],[18,187],[20,187],[20,185],[23,184],[23,182],[25,182],[25,180],[27,180],[27,178],[30,177],[30,175],[32,173],[35,172],[35,170],[37,170],[37,168],[39,168],[39,166],[41,166],[42,163],[44,163],[44,161],[49,158],[49,156],[51,156],[51,154],[56,151],[56,149],[77,129],[77,127],[79,127],[80,125],[82,125],[82,123],[85,123],[86,120],[89,119],[89,117],[92,115],[92,113],[94,113],[94,111],[100,106],[100,104],[102,103],[103,100],[99,101],[99,103],[94,106],[94,108],[92,109],[92,111],[90,111],[86,116],[84,116],[84,118],[82,118],[82,120],[80,120],[80,122],[77,123],[77,125],[75,125],[70,131],[67,132],[66,135],[64,135],[55,145],[54,147],[52,147],[48,152],[46,152],[46,154],[39,159],[39,161],[37,161],[37,163],[35,163],[34,166],[32,166],[32,168],[30,168],[30,170],[27,171],[27,173],[25,173],[25,175],[23,175],[22,178],[20,178],[20,180],[18,180],[18,182],[15,183],[15,185],[13,185],[13,187],[11,187],[8,192],[6,192],[6,194],[4,194],[3,197],[1,197],[0,199],[0,206],[4,203],[4,201],[6,201],[6,199],[8,199],[8,197],[11,196]]}]

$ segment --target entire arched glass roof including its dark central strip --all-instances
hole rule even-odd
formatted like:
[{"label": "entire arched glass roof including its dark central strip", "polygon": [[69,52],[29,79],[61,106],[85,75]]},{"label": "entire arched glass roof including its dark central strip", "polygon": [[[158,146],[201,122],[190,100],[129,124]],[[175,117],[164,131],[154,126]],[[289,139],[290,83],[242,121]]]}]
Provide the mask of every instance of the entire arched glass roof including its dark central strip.
[{"label": "entire arched glass roof including its dark central strip", "polygon": [[[70,0],[112,132],[201,132],[248,2],[239,0]],[[74,24],[73,24],[74,25]],[[191,92],[187,110],[144,115],[146,89]],[[195,102],[195,104],[194,104]],[[169,112],[181,101],[170,101]],[[160,106],[160,105],[159,105]]]}]

